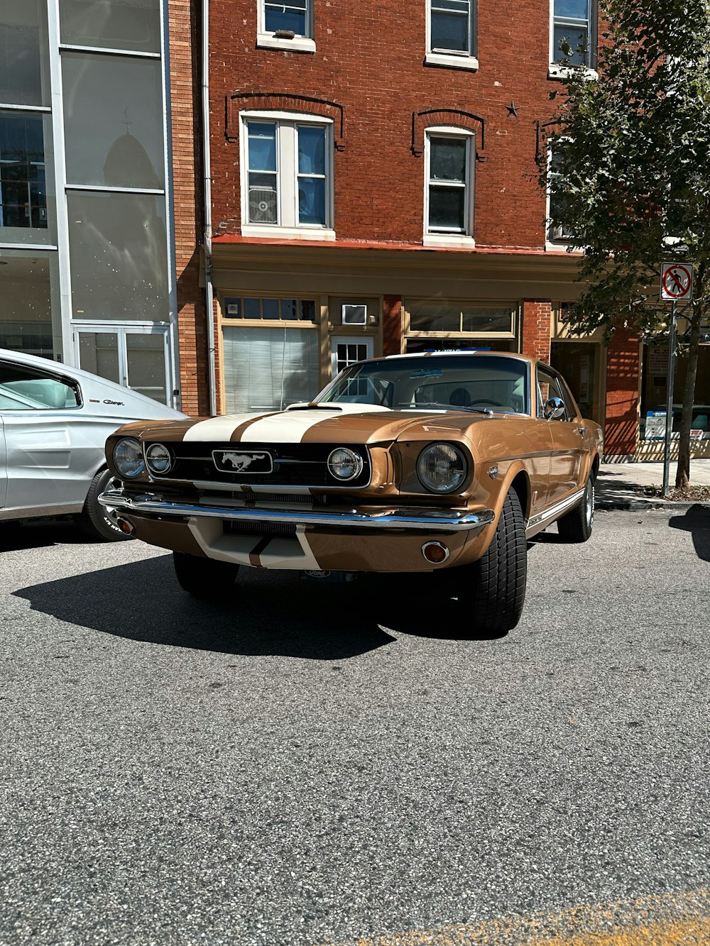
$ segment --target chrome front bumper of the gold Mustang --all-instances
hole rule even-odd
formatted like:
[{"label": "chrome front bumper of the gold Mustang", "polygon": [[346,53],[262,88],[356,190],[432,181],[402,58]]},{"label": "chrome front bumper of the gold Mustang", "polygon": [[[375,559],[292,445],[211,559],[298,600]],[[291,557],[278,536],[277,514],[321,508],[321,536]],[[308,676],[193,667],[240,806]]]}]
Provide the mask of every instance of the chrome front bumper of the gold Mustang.
[{"label": "chrome front bumper of the gold Mustang", "polygon": [[399,509],[397,507],[362,506],[343,512],[320,512],[301,509],[235,509],[201,506],[190,502],[170,502],[157,496],[127,496],[122,490],[107,490],[98,497],[102,506],[116,512],[169,517],[207,517],[243,519],[247,522],[290,522],[304,526],[336,526],[346,529],[398,528],[425,532],[480,532],[495,519],[492,509],[470,512],[466,509],[443,510],[431,507]]}]

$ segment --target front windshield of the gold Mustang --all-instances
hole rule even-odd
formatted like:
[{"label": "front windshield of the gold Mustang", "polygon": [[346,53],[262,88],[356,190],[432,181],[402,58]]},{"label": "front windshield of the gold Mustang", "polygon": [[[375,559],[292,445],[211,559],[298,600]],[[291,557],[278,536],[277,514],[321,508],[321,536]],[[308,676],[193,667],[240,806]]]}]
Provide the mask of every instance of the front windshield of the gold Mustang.
[{"label": "front windshield of the gold Mustang", "polygon": [[360,361],[335,378],[316,403],[407,409],[527,413],[526,363],[495,356]]}]

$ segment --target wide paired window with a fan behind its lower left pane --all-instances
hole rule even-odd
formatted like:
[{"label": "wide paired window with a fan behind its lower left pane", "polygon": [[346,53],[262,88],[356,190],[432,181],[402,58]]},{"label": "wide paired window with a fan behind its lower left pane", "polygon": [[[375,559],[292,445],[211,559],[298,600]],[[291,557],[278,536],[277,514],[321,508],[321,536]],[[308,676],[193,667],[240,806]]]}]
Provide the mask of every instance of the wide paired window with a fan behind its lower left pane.
[{"label": "wide paired window with a fan behind its lower left pane", "polygon": [[[311,229],[331,225],[331,126],[323,122],[244,121],[243,227]],[[252,228],[250,231],[249,228]]]}]

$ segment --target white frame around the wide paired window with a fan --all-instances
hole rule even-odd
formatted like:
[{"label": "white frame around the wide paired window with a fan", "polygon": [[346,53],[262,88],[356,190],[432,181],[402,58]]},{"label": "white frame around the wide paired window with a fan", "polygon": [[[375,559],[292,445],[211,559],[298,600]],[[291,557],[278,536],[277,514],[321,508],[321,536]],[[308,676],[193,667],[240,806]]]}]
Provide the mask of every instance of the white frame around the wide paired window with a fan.
[{"label": "white frame around the wide paired window with a fan", "polygon": [[[249,122],[276,125],[276,167],[278,213],[276,223],[249,222]],[[326,225],[298,223],[298,136],[299,125],[317,125],[326,130]],[[282,133],[282,130],[285,133]],[[293,112],[249,111],[240,113],[241,235],[272,239],[334,240],[333,172],[334,127],[332,118]]]}]

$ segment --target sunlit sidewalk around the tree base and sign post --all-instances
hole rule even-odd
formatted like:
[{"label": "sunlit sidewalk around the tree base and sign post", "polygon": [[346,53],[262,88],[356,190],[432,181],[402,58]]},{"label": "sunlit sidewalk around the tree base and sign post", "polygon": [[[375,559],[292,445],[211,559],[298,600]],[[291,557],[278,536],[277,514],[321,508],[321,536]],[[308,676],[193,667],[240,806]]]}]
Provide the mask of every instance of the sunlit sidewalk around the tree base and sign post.
[{"label": "sunlit sidewalk around the tree base and sign post", "polygon": [[[677,466],[677,461],[671,461],[668,476],[671,489],[675,486]],[[660,487],[663,482],[663,463],[601,464],[595,483],[595,506],[597,509],[685,509],[695,504],[643,496],[634,490],[636,486]],[[710,460],[691,460],[690,482],[694,486],[710,485]]]}]

